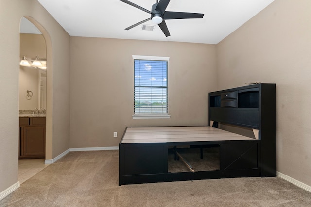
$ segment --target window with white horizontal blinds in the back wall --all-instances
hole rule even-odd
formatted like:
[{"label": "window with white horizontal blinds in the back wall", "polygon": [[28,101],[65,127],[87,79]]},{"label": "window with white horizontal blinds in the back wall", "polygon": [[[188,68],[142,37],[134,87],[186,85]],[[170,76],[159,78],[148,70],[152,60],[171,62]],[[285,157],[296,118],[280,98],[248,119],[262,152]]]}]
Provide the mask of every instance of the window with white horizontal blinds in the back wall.
[{"label": "window with white horizontal blinds in the back wall", "polygon": [[167,57],[133,56],[133,118],[169,118]]}]

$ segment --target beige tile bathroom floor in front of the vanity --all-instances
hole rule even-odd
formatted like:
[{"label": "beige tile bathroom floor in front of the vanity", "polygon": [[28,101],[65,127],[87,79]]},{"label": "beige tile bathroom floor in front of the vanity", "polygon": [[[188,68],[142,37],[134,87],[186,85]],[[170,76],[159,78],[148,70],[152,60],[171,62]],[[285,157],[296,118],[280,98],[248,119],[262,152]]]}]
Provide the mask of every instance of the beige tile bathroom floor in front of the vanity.
[{"label": "beige tile bathroom floor in front of the vanity", "polygon": [[43,170],[49,164],[44,164],[45,159],[19,159],[18,181],[20,184]]}]

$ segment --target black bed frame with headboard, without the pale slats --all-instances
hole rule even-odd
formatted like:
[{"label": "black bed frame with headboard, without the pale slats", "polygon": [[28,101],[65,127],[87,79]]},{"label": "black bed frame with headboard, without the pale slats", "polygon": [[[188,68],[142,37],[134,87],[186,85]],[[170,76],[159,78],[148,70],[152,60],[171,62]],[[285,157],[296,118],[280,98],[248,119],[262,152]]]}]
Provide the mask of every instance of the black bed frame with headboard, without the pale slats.
[{"label": "black bed frame with headboard, without the pale slats", "polygon": [[[276,85],[253,84],[209,93],[209,123],[252,128],[258,139],[120,143],[119,185],[232,177],[276,176]],[[124,136],[124,135],[123,135]],[[220,169],[168,172],[168,148],[219,146]]]}]

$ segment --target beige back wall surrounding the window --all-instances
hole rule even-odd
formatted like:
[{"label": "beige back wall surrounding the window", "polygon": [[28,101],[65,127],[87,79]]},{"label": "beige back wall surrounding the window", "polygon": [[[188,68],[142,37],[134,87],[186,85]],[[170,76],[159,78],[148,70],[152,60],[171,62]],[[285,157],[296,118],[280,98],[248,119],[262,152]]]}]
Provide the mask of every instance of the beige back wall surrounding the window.
[{"label": "beige back wall surrounding the window", "polygon": [[[170,119],[132,119],[132,55],[170,57]],[[215,45],[71,37],[70,148],[118,146],[130,126],[207,125],[215,77]]]}]

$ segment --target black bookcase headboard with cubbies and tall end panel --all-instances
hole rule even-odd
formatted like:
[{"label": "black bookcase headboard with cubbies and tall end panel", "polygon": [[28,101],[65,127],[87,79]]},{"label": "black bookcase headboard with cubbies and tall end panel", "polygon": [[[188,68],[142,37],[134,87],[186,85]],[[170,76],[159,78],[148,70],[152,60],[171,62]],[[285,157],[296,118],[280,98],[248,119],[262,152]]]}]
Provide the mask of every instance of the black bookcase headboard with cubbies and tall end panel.
[{"label": "black bookcase headboard with cubbies and tall end panel", "polygon": [[276,175],[276,84],[260,83],[209,93],[209,123],[252,128],[261,144],[263,176]]}]

